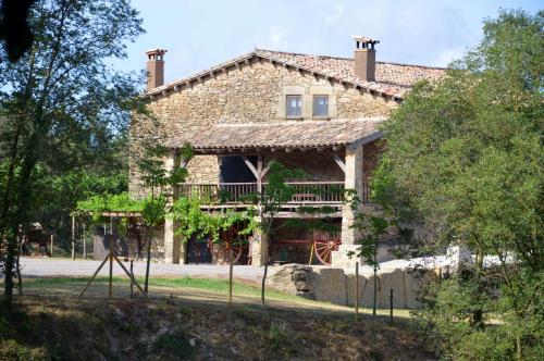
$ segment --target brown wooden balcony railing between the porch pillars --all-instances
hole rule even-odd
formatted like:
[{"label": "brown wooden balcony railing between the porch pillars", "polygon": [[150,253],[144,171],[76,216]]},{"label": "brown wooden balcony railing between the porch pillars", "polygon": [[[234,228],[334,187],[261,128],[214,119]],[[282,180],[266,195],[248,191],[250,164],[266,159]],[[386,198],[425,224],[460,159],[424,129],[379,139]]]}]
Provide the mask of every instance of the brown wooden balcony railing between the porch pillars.
[{"label": "brown wooden balcony railing between the porch pillars", "polygon": [[[344,182],[288,182],[294,195],[287,204],[342,204]],[[262,184],[263,191],[267,183]],[[248,203],[249,195],[257,192],[257,183],[183,183],[180,196],[197,197],[203,203]],[[362,187],[362,202],[370,201],[370,189]]]}]

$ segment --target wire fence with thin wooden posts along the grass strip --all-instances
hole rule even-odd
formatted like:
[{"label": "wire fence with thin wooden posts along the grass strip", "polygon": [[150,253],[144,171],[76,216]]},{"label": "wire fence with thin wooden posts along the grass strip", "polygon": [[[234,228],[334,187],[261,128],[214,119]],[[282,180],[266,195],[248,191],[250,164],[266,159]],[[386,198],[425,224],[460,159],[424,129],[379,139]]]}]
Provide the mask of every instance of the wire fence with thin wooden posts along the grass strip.
[{"label": "wire fence with thin wooden posts along the grass strip", "polygon": [[[113,248],[113,252],[115,252]],[[21,258],[23,294],[94,298],[176,298],[225,307],[296,308],[310,312],[407,316],[420,286],[436,272],[380,271],[284,264],[168,264],[109,256],[102,260]],[[264,273],[267,273],[264,278]],[[264,279],[264,283],[263,283]]]}]

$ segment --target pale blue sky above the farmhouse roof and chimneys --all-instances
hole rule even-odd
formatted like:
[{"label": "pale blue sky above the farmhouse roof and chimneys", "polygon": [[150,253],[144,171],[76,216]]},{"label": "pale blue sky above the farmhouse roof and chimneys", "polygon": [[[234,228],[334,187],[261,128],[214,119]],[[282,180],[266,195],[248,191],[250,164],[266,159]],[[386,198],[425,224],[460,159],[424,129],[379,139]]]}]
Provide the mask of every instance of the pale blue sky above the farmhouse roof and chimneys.
[{"label": "pale blue sky above the farmhouse roof and chimneys", "polygon": [[536,12],[544,0],[133,0],[147,34],[127,47],[123,71],[165,48],[166,83],[256,47],[351,57],[353,35],[380,39],[376,59],[445,66],[475,46],[482,20],[498,9]]}]

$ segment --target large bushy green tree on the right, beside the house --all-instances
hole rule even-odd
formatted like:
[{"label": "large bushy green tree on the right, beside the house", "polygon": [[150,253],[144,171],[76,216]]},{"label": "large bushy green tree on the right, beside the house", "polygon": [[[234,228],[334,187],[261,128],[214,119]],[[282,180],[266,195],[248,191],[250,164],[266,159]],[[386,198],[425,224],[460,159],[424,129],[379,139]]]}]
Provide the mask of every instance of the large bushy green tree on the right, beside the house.
[{"label": "large bushy green tree on the right, beside the house", "polygon": [[[430,320],[454,357],[544,352],[543,15],[502,11],[486,20],[480,46],[437,84],[416,86],[385,125],[380,176],[391,187],[381,197],[405,220],[422,220],[436,249],[460,245],[477,254],[473,277],[445,282],[430,298],[441,316]],[[484,267],[484,256],[497,266]],[[498,300],[485,297],[494,285]],[[452,287],[473,302],[447,297]],[[497,312],[500,326],[485,327],[486,312]],[[467,315],[463,333],[449,332]],[[458,344],[475,353],[456,353]]]}]

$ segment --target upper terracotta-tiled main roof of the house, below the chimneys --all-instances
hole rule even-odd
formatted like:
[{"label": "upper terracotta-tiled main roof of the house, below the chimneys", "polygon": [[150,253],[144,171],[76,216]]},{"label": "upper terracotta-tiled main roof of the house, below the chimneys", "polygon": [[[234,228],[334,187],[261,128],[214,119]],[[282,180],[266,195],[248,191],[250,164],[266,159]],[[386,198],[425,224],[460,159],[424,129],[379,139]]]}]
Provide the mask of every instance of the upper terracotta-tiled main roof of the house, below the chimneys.
[{"label": "upper terracotta-tiled main roof of the house, below the chimneys", "polygon": [[416,82],[422,79],[434,80],[444,75],[445,72],[443,67],[376,62],[375,82],[366,82],[355,76],[354,59],[350,58],[311,55],[256,49],[250,53],[235,58],[231,61],[213,66],[207,71],[151,89],[144,96],[153,97],[157,95],[165,95],[171,90],[178,90],[184,86],[190,86],[190,84],[194,82],[201,82],[207,77],[213,77],[214,74],[218,74],[225,69],[244,66],[245,64],[257,58],[283,64],[284,66],[290,66],[301,72],[308,72],[323,77],[333,78],[337,82],[353,85],[357,88],[366,89],[370,92],[376,92],[382,96],[393,97],[397,100],[400,100],[404,95],[410,89],[410,87],[416,84]]}]

